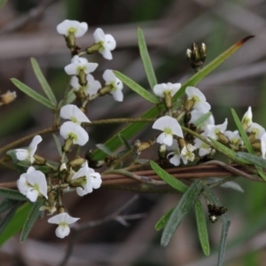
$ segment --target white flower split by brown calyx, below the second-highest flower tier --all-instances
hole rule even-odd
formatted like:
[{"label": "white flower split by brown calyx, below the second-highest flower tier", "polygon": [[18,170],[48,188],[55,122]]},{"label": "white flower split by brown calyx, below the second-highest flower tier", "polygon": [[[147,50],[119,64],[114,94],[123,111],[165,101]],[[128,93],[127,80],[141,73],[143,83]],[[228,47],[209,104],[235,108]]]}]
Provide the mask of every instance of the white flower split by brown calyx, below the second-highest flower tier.
[{"label": "white flower split by brown calyx, below the second-highest flower tier", "polygon": [[[98,82],[94,79],[92,74],[87,74],[86,80],[87,80],[87,85],[84,88],[84,90],[85,90],[84,92],[86,95],[88,95],[90,97],[90,96],[96,94],[102,86],[101,86],[100,82]],[[80,90],[82,88],[80,83],[79,83],[78,78],[75,75],[71,78],[70,84],[74,88],[74,90]]]}]

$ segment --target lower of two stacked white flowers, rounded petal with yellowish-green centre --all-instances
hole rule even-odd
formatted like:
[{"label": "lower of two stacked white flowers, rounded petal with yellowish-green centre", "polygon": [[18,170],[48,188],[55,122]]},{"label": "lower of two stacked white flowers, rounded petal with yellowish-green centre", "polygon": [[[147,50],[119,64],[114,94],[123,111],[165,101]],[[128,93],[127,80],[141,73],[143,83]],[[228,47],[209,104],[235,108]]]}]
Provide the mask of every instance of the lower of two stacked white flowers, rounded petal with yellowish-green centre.
[{"label": "lower of two stacked white flowers, rounded petal with yellowish-green centre", "polygon": [[89,141],[89,135],[85,129],[73,121],[66,121],[60,127],[60,135],[64,139],[71,137],[73,144],[83,146]]}]

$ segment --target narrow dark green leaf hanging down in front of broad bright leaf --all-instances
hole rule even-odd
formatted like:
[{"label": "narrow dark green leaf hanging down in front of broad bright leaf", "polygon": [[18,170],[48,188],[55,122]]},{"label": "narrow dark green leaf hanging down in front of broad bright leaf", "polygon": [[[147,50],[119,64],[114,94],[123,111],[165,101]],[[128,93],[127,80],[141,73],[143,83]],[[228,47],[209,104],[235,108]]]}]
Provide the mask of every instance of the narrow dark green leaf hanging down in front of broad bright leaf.
[{"label": "narrow dark green leaf hanging down in front of broad bright leaf", "polygon": [[35,201],[32,209],[30,210],[29,214],[27,215],[27,220],[23,225],[23,229],[20,235],[20,242],[24,242],[27,239],[29,232],[34,227],[37,219],[40,216],[40,207],[43,205],[43,200]]}]

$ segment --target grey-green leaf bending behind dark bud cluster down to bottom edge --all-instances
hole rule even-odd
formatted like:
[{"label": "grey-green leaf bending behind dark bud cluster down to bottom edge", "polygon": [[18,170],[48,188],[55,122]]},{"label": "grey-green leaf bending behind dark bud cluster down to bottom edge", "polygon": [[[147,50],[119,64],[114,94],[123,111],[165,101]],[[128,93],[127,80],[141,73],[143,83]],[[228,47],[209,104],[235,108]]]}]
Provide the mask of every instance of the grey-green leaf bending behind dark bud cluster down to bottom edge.
[{"label": "grey-green leaf bending behind dark bud cluster down to bottom edge", "polygon": [[[207,198],[212,203],[214,203],[217,206],[222,206],[217,197],[215,196],[214,192],[210,190],[207,185],[204,185],[204,190],[207,193]],[[219,244],[219,250],[218,250],[218,262],[217,266],[223,265],[223,258],[225,253],[225,247],[226,247],[226,239],[229,231],[229,227],[231,224],[230,217],[227,213],[221,215],[221,219],[223,222],[222,232],[221,232],[221,239]]]}]

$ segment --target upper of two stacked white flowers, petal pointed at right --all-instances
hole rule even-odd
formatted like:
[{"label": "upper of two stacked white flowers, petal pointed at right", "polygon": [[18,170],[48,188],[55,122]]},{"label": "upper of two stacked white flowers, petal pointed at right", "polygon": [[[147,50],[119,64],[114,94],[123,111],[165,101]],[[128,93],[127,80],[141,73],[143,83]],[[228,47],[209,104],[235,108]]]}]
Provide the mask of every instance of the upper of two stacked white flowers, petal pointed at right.
[{"label": "upper of two stacked white flowers, petal pointed at right", "polygon": [[69,119],[80,125],[82,122],[90,122],[85,113],[80,108],[74,105],[66,105],[60,109],[60,116],[64,119]]}]

